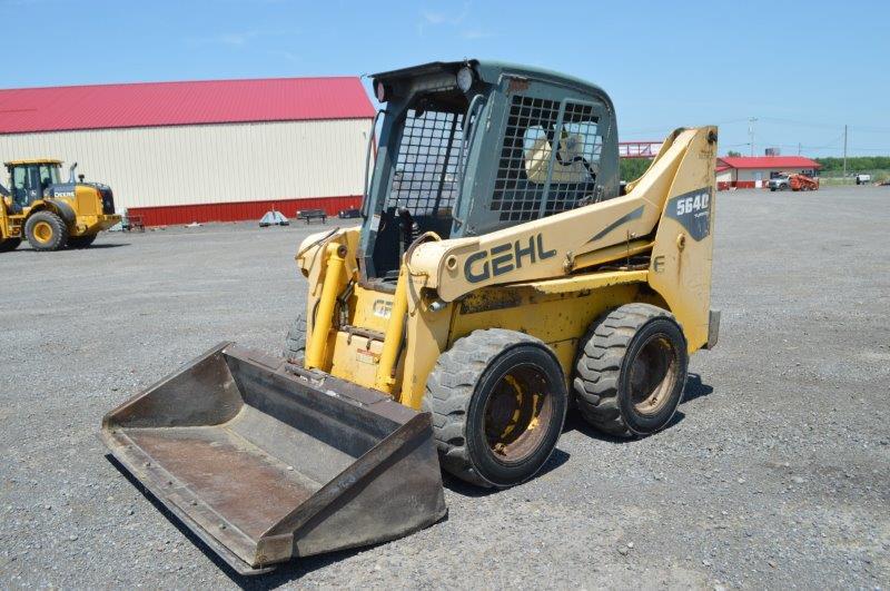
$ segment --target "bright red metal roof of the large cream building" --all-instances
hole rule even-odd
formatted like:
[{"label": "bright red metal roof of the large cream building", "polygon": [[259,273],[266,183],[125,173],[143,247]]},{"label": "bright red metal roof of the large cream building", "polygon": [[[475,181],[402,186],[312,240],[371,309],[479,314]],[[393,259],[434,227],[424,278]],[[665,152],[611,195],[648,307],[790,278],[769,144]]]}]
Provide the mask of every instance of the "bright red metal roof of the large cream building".
[{"label": "bright red metal roof of the large cream building", "polygon": [[0,90],[0,134],[370,117],[356,77]]}]

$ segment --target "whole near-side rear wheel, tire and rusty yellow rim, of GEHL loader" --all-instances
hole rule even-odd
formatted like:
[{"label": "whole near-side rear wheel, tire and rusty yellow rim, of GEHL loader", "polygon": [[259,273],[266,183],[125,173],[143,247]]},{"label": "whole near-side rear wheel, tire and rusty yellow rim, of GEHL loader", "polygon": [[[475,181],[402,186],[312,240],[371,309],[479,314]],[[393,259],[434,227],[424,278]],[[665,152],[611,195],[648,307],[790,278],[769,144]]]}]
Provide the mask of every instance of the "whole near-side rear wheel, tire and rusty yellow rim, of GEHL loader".
[{"label": "whole near-side rear wheel, tire and rusty yellow rim, of GEHL loader", "polygon": [[627,304],[580,344],[573,382],[582,416],[612,435],[647,435],[673,417],[686,382],[686,339],[673,315]]}]

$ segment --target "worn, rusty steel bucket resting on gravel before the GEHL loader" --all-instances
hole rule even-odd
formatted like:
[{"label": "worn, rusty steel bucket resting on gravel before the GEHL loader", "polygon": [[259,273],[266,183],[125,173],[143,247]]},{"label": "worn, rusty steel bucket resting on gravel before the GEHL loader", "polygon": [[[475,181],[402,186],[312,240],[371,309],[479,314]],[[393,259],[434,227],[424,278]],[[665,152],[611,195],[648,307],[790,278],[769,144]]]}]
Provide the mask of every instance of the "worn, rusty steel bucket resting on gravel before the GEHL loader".
[{"label": "worn, rusty steel bucket resting on gravel before the GEHL loader", "polygon": [[243,574],[446,513],[428,414],[230,343],[108,413],[101,436]]}]

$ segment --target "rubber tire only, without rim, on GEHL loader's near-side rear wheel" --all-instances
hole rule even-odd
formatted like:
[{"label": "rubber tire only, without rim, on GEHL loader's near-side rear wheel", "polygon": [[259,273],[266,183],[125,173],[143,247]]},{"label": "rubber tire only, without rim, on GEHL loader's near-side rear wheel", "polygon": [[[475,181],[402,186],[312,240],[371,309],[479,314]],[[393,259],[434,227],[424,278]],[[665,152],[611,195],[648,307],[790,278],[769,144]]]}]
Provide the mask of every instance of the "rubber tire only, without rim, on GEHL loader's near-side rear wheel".
[{"label": "rubber tire only, without rim, on GEHL loader's near-side rear wheel", "polygon": [[[661,407],[641,413],[630,387],[630,368],[653,336],[670,345],[674,383]],[[683,397],[689,354],[673,314],[649,304],[626,304],[600,316],[578,343],[573,390],[581,415],[595,429],[616,436],[649,435],[670,423]]]}]

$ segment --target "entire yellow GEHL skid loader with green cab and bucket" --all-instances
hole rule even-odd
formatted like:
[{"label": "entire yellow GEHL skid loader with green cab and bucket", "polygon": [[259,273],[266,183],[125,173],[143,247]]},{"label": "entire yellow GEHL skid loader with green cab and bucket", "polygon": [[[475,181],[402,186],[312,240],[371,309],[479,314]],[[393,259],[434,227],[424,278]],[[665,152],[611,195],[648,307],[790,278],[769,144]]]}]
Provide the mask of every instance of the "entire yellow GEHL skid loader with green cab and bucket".
[{"label": "entire yellow GEHL skid loader with green cab and bucket", "polygon": [[427,526],[441,471],[533,477],[571,401],[603,432],[655,433],[716,343],[715,128],[671,134],[622,195],[596,86],[467,60],[374,88],[364,221],[300,245],[284,355],[221,344],[103,420],[119,463],[238,572]]}]

